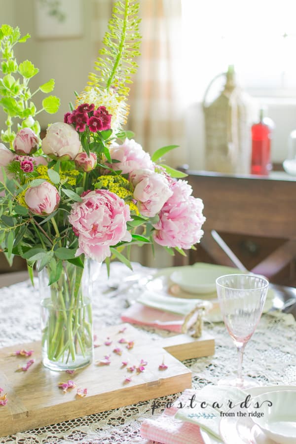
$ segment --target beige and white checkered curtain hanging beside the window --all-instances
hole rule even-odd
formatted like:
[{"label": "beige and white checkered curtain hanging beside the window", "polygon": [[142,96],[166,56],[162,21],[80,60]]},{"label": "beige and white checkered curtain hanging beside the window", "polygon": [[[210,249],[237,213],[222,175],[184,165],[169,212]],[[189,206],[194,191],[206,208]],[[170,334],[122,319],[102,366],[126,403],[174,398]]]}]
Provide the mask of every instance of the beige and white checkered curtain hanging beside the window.
[{"label": "beige and white checkered curtain hanging beside the window", "polygon": [[[93,60],[111,17],[113,1],[92,0]],[[140,0],[142,34],[139,70],[133,75],[128,98],[130,115],[126,129],[152,153],[166,145],[180,145],[165,162],[177,167],[186,162],[181,105],[181,0]]]}]

